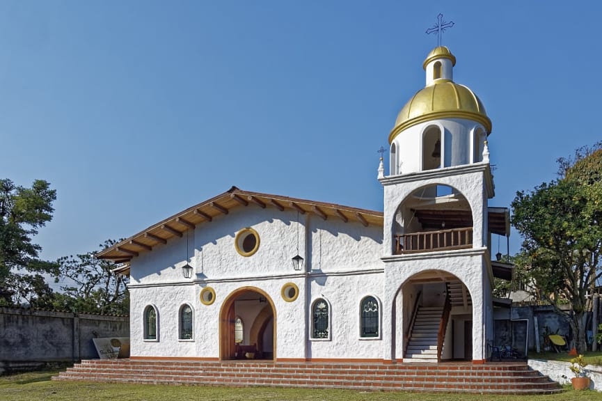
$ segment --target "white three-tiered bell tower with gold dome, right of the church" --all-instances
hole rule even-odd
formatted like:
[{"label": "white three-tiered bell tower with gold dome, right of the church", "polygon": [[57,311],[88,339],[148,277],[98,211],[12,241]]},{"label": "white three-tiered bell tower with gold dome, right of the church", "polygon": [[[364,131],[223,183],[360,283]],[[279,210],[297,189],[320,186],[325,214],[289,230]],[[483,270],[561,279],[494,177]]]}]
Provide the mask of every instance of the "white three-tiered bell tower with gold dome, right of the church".
[{"label": "white three-tiered bell tower with gold dome, right of the church", "polygon": [[[379,167],[385,292],[396,310],[390,357],[398,361],[457,358],[459,349],[465,359],[484,361],[486,338],[493,336],[491,120],[479,97],[454,82],[455,64],[447,47],[427,55],[425,87],[406,102],[388,136],[388,175]],[[413,345],[407,333],[417,311],[411,309],[422,306],[441,307],[446,331],[436,336],[440,343],[416,351],[424,342]],[[471,333],[459,334],[468,327]]]}]

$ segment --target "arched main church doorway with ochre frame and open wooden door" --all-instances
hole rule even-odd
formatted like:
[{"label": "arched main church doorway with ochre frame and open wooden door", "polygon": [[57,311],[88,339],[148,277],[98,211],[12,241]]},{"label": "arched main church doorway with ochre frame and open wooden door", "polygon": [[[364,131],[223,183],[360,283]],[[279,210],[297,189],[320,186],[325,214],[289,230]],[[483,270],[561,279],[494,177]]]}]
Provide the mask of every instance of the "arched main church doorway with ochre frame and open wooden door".
[{"label": "arched main church doorway with ochre frame and open wooden door", "polygon": [[274,359],[276,356],[276,309],[259,288],[232,292],[220,310],[219,354],[221,360]]}]

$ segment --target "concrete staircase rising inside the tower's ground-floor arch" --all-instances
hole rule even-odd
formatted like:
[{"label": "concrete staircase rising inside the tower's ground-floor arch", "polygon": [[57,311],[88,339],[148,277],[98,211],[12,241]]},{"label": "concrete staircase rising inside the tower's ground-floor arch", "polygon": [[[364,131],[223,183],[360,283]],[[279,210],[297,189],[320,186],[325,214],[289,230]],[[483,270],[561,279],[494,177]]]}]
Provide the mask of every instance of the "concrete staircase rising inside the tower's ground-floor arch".
[{"label": "concrete staircase rising inside the tower's ground-floor arch", "polygon": [[443,306],[418,307],[404,362],[437,363],[437,334],[442,315]]}]

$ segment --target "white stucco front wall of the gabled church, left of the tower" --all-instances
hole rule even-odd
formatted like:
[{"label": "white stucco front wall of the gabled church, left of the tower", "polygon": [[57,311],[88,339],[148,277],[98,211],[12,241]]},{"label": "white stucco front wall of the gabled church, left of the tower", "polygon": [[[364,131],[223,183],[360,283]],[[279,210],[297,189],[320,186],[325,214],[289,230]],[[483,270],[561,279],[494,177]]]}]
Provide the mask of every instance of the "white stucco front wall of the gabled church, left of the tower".
[{"label": "white stucco front wall of the gabled church, left of the tower", "polygon": [[[260,236],[258,251],[250,257],[241,256],[234,244],[236,233],[246,227]],[[271,346],[278,359],[381,358],[380,339],[359,338],[361,299],[382,297],[381,235],[381,226],[364,227],[332,217],[324,221],[315,214],[299,215],[298,224],[294,211],[253,205],[201,224],[188,234],[192,278],[184,278],[181,269],[186,262],[186,234],[132,260],[132,356],[219,358],[221,306],[230,294],[250,288],[267,294],[274,305],[276,342]],[[292,269],[298,237],[305,272]],[[293,302],[280,295],[286,283],[299,288]],[[211,305],[200,302],[205,287],[215,291]],[[327,341],[309,340],[309,308],[317,297],[332,305]],[[184,303],[194,310],[192,341],[177,338],[178,310]],[[148,305],[159,310],[157,340],[143,340],[143,310]],[[244,312],[245,343],[252,324],[248,320],[257,312]]]}]

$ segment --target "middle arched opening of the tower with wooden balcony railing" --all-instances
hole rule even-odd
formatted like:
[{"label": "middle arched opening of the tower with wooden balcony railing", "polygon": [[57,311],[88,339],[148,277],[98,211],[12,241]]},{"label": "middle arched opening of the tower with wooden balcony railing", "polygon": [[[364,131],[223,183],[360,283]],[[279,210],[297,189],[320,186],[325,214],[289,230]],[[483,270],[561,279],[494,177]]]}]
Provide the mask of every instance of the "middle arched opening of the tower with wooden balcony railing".
[{"label": "middle arched opening of the tower with wooden balcony railing", "polygon": [[399,205],[393,232],[394,254],[472,248],[473,212],[457,189],[431,184]]}]

